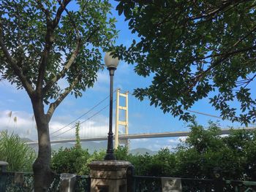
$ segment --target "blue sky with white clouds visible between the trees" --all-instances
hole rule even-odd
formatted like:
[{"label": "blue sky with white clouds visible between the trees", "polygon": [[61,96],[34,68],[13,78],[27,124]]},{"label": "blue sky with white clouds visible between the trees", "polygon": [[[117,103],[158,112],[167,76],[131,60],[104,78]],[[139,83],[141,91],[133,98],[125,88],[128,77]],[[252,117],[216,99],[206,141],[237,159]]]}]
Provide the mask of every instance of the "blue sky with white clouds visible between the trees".
[{"label": "blue sky with white clouds visible between the trees", "polygon": [[[111,1],[111,3],[113,7],[116,7],[116,2]],[[119,30],[116,45],[123,44],[128,46],[132,42],[132,38],[138,37],[131,34],[128,23],[124,21],[124,16],[118,16],[115,9],[112,10],[112,13],[116,17],[116,28]],[[170,114],[164,114],[159,108],[150,106],[148,100],[139,101],[132,96],[133,89],[144,88],[150,85],[150,83],[150,77],[144,78],[135,74],[134,66],[128,65],[124,61],[119,62],[114,77],[114,89],[121,88],[121,93],[129,91],[129,133],[139,134],[189,130],[186,122],[178,120],[178,118],[173,118]],[[108,95],[109,74],[108,70],[105,69],[98,73],[98,79],[94,87],[84,92],[81,98],[75,99],[74,96],[67,96],[60,104],[50,121],[51,139],[74,138],[74,123],[69,126],[67,125],[81,115],[83,117],[79,120],[80,122],[84,121],[84,123],[81,124],[80,137],[107,135],[109,100],[106,98]],[[99,104],[100,101],[102,102]],[[97,104],[99,105],[91,110]],[[121,104],[124,104],[124,101],[121,101]],[[115,115],[116,104],[113,105],[113,108]],[[211,104],[208,104],[208,99],[198,101],[191,110],[219,116],[219,112],[215,111],[211,107]],[[195,115],[197,122],[203,126],[207,126],[209,120],[219,120],[218,118],[212,118],[206,115]],[[123,116],[121,115],[121,118],[124,118]],[[37,130],[29,96],[26,95],[25,91],[17,90],[15,85],[10,85],[6,80],[0,81],[0,122],[0,131],[7,129],[10,133],[14,132],[20,137],[26,137],[32,140],[37,139]],[[219,120],[219,125],[222,128],[228,128],[229,126],[240,127],[239,123],[231,123],[228,120]],[[53,134],[53,132],[55,133]],[[182,138],[133,139],[130,141],[130,148],[146,147],[149,150],[159,150],[163,147],[168,147],[172,149],[179,142],[179,139]]]}]

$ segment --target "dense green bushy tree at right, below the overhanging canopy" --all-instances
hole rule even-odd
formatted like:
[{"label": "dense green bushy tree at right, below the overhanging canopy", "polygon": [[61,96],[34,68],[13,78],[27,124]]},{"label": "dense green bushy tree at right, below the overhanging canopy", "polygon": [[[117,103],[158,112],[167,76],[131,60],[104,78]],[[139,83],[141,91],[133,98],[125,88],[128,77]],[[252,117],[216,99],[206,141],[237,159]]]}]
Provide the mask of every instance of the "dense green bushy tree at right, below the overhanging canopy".
[{"label": "dense green bushy tree at right, below the overhanging canopy", "polygon": [[256,131],[233,129],[221,137],[216,123],[189,127],[189,137],[176,147],[178,177],[213,179],[219,169],[225,180],[255,180]]}]

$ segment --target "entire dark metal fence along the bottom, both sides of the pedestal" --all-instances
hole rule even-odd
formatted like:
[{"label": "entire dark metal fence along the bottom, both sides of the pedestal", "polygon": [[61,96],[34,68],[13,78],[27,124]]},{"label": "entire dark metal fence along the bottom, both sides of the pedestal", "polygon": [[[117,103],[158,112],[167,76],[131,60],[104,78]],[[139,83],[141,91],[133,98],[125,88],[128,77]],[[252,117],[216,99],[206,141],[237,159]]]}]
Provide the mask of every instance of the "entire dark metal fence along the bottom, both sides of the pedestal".
[{"label": "entire dark metal fence along the bottom, both sides of the pedestal", "polygon": [[[128,176],[128,175],[127,175]],[[50,185],[49,192],[61,189],[61,177],[57,174]],[[89,192],[91,179],[89,176],[75,176],[75,191]],[[34,177],[31,173],[0,172],[0,191],[32,192]],[[127,192],[256,192],[256,182],[236,180],[197,180],[175,177],[146,177],[129,174]],[[111,191],[108,191],[111,192]]]}]

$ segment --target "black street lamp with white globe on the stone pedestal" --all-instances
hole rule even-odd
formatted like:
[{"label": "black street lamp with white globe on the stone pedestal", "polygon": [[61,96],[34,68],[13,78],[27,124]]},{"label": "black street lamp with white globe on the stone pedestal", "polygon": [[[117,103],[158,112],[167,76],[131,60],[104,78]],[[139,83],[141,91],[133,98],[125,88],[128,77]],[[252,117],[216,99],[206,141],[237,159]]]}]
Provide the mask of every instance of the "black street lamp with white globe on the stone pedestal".
[{"label": "black street lamp with white globe on the stone pedestal", "polygon": [[109,75],[110,75],[110,110],[109,110],[109,129],[108,129],[108,149],[107,154],[105,155],[105,160],[116,160],[113,150],[113,131],[112,131],[112,124],[113,124],[113,76],[118,66],[118,58],[113,58],[110,55],[110,52],[105,54],[104,57],[105,65],[108,68]]}]

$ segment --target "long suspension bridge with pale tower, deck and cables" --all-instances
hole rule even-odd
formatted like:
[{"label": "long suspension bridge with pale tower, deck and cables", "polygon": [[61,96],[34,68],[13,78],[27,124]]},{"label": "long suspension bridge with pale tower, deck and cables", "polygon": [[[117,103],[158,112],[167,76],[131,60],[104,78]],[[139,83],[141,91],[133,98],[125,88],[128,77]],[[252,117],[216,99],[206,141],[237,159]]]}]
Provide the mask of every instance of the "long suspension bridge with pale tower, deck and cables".
[{"label": "long suspension bridge with pale tower, deck and cables", "polygon": [[[129,105],[128,105],[128,97],[129,92],[121,93],[120,89],[117,89],[116,91],[116,120],[115,120],[115,128],[114,128],[114,144],[115,148],[118,147],[120,143],[124,145],[128,145],[128,141],[130,139],[146,139],[146,138],[160,138],[160,137],[187,137],[189,136],[189,131],[165,131],[165,132],[155,132],[155,133],[142,133],[142,134],[129,134]],[[105,99],[102,99],[102,101],[99,101],[99,103],[95,104],[94,107],[91,107],[90,110],[83,113],[83,115],[80,115],[75,120],[72,120],[72,122],[68,123],[66,126],[63,126],[56,131],[53,131],[50,134],[51,137],[51,144],[56,143],[67,143],[67,142],[75,142],[75,138],[72,139],[56,139],[60,137],[63,134],[66,134],[69,131],[74,131],[75,126],[72,126],[74,123],[78,122],[81,118],[85,117],[86,115],[89,115],[90,112],[93,112],[93,110],[101,105],[104,101],[106,101],[109,97],[106,97]],[[121,106],[120,100],[124,99],[124,106]],[[89,118],[86,118],[85,120],[81,121],[80,124],[85,123],[86,121],[90,120],[96,115],[99,115],[100,112],[107,109],[109,105],[106,105],[105,107],[102,107],[102,109],[98,110],[97,112],[94,112],[93,115],[89,116]],[[124,112],[124,120],[120,120],[121,112]],[[203,112],[196,112],[189,110],[189,112],[194,112],[200,115],[207,115],[212,118],[220,118],[216,115],[206,114]],[[71,126],[71,127],[70,127]],[[124,126],[124,130],[120,131],[120,126]],[[248,131],[255,130],[254,127],[245,128]],[[230,134],[230,128],[222,128],[219,134]],[[106,130],[107,131],[107,130]],[[104,141],[108,139],[107,133],[102,133],[101,136],[96,137],[81,137],[80,142],[89,142],[89,141]],[[35,145],[38,142],[27,142],[28,145]]]}]

